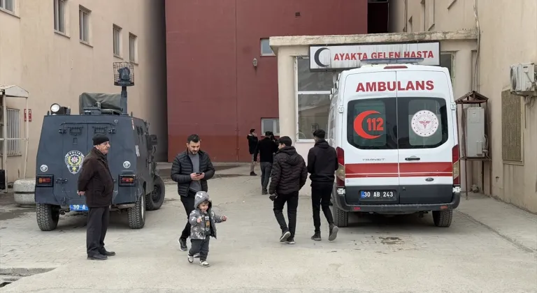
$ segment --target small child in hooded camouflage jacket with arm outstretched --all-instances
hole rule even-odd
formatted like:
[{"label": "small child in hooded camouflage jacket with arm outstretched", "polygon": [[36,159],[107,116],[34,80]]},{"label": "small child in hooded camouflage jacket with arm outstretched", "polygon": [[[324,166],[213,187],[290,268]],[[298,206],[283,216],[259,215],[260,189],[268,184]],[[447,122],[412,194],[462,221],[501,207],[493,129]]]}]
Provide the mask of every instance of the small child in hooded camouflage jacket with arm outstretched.
[{"label": "small child in hooded camouflage jacket with arm outstretched", "polygon": [[188,262],[194,262],[194,255],[199,253],[199,265],[209,266],[207,255],[209,253],[210,236],[216,239],[215,223],[227,220],[226,216],[218,216],[211,210],[212,203],[208,193],[198,191],[194,197],[194,211],[188,216],[190,228],[190,241],[192,246],[188,251]]}]

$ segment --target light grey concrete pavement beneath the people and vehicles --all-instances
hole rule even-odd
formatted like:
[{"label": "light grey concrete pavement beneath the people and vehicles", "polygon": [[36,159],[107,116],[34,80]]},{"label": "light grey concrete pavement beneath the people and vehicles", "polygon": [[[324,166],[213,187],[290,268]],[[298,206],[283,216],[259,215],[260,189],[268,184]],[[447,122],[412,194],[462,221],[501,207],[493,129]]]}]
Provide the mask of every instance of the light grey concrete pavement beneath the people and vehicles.
[{"label": "light grey concrete pavement beneath the people and vehicles", "polygon": [[[229,217],[211,239],[209,268],[178,249],[185,211],[176,186],[147,214],[142,230],[113,215],[106,247],[117,255],[85,259],[85,217],[62,216],[41,232],[35,213],[3,206],[0,273],[56,268],[0,292],[537,292],[537,216],[488,197],[462,200],[450,228],[430,215],[351,218],[338,239],[310,240],[309,183],[300,193],[296,244],[279,243],[272,202],[248,167],[209,181],[215,211]],[[31,271],[26,271],[31,273]],[[200,285],[203,282],[203,285]]]}]

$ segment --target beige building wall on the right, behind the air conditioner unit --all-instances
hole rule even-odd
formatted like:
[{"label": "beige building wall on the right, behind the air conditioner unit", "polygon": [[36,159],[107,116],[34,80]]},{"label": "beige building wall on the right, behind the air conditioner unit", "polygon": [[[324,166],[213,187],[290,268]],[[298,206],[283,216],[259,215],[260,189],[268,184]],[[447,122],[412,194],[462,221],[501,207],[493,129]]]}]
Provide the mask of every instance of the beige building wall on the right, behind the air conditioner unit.
[{"label": "beige building wall on the right, behind the air conditioner unit", "polygon": [[[423,27],[418,25],[423,18],[422,1],[408,0],[407,17],[405,2],[390,3],[392,32],[403,31],[410,17],[413,20],[412,30],[423,31]],[[425,0],[424,10],[433,10],[434,5],[434,26],[430,31],[475,29],[474,2],[477,3],[481,35],[478,77],[473,87],[489,98],[492,163],[484,164],[484,172],[481,172],[480,163],[474,163],[472,180],[478,186],[482,182],[482,188],[488,195],[537,212],[537,106],[523,105],[523,163],[513,165],[503,162],[501,127],[501,91],[509,87],[510,64],[537,62],[537,1]],[[425,18],[427,27],[429,22]]]}]

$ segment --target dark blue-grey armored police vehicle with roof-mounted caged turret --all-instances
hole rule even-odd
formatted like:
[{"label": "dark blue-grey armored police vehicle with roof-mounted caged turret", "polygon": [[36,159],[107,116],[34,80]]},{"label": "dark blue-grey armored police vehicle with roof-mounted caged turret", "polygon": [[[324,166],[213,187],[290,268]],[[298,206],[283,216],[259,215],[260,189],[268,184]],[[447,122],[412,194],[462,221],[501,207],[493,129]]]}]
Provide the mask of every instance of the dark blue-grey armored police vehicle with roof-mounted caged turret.
[{"label": "dark blue-grey armored police vehicle with roof-mounted caged turret", "polygon": [[154,159],[157,136],[149,134],[146,121],[127,114],[126,87],[134,84],[129,65],[118,68],[115,75],[121,94],[82,93],[78,115],[53,104],[43,118],[35,189],[41,230],[55,230],[60,214],[88,211],[85,197],[77,194],[78,175],[97,133],[110,139],[107,157],[114,181],[110,211],[127,211],[129,227],[140,229],[145,211],[162,206],[164,182]]}]

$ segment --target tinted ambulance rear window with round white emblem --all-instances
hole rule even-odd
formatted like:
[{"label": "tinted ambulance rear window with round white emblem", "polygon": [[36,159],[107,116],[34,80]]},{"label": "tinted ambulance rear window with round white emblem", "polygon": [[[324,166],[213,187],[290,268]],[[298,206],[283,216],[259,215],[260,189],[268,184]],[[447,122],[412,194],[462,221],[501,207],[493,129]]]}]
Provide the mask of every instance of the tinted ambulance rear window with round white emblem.
[{"label": "tinted ambulance rear window with round white emblem", "polygon": [[398,98],[399,149],[432,149],[447,141],[443,98]]}]

